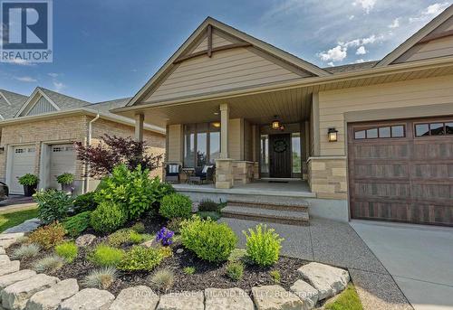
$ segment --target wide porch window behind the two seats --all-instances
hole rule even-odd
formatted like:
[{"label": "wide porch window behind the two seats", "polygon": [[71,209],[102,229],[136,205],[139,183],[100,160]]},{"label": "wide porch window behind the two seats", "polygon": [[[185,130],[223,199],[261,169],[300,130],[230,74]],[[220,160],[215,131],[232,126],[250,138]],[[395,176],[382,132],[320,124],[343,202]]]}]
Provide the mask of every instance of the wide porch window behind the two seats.
[{"label": "wide porch window behind the two seats", "polygon": [[184,126],[184,167],[216,164],[220,155],[220,127],[218,123]]}]

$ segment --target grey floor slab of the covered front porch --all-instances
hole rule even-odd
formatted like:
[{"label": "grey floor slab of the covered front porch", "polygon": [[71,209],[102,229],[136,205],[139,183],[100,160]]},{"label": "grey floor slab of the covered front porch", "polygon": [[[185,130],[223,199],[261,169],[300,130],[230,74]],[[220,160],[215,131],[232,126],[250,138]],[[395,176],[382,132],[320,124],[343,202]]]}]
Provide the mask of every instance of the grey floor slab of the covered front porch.
[{"label": "grey floor slab of the covered front porch", "polygon": [[316,197],[315,193],[310,192],[308,183],[303,180],[287,180],[284,183],[270,182],[269,180],[255,180],[253,183],[235,184],[229,189],[218,189],[213,183],[209,184],[188,184],[176,183],[173,187],[178,192],[192,193],[225,193],[225,194],[257,194],[268,196],[286,197]]}]

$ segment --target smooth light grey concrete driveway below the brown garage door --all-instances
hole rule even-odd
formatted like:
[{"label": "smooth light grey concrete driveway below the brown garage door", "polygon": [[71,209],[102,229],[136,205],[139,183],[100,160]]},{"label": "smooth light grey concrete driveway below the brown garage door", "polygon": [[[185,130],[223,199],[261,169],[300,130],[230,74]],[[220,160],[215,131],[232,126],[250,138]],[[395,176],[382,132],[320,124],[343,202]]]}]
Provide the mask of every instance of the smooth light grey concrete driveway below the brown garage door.
[{"label": "smooth light grey concrete driveway below the brown garage door", "polygon": [[376,221],[352,228],[416,309],[453,309],[453,229]]}]

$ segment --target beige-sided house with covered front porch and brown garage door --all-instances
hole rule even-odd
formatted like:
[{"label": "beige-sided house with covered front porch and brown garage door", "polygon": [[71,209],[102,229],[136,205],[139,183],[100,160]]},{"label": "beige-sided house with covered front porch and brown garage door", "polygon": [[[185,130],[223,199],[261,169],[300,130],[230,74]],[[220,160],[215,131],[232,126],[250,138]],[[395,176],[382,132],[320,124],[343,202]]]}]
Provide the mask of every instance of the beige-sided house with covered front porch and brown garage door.
[{"label": "beige-sided house with covered front porch and brown garage door", "polygon": [[325,69],[207,18],[113,112],[166,126],[168,163],[216,163],[218,193],[303,178],[312,214],[453,225],[452,16]]}]

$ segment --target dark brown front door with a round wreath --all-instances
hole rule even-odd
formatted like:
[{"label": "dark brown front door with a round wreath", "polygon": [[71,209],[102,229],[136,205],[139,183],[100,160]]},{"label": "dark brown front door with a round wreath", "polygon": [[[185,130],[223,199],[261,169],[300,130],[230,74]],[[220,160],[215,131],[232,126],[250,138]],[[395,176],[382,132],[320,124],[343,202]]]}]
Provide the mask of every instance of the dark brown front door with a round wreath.
[{"label": "dark brown front door with a round wreath", "polygon": [[291,177],[291,134],[269,136],[269,176]]}]

